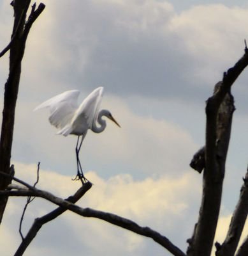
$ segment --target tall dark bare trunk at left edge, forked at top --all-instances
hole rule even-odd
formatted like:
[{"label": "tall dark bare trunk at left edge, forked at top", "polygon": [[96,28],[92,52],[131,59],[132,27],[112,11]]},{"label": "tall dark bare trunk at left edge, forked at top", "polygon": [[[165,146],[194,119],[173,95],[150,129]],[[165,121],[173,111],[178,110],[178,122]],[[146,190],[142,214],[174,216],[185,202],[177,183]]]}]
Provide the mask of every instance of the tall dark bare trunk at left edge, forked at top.
[{"label": "tall dark bare trunk at left edge, forked at top", "polygon": [[[36,12],[33,12],[33,18],[31,17],[31,20],[27,20],[27,24],[25,25],[26,13],[29,8],[30,1],[31,0],[22,0],[12,2],[15,20],[11,35],[11,43],[9,45],[10,72],[4,88],[3,120],[0,138],[0,171],[4,173],[10,173],[13,127],[15,123],[15,106],[17,102],[21,63],[24,56],[26,39],[34,20],[37,19],[45,8],[44,4],[40,4],[41,7],[38,8]],[[9,178],[1,175],[0,189],[6,189],[9,182]],[[0,223],[3,218],[7,200],[8,197],[6,196],[0,198]]]}]

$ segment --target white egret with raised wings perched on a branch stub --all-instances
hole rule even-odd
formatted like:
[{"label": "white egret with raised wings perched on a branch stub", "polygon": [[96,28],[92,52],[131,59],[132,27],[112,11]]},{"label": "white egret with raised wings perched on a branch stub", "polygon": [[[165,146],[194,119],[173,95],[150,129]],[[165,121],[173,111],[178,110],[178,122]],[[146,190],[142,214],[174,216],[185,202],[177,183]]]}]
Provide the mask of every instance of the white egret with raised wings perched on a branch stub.
[{"label": "white egret with raised wings perched on a branch stub", "polygon": [[80,148],[87,131],[91,129],[91,131],[96,133],[103,132],[106,128],[106,121],[103,119],[103,116],[106,116],[106,118],[112,120],[120,127],[110,111],[107,109],[99,111],[103,90],[103,87],[96,88],[80,105],[77,103],[80,92],[78,90],[69,90],[46,100],[34,108],[34,111],[43,108],[48,108],[50,110],[49,122],[59,129],[57,134],[62,134],[64,136],[73,134],[78,136],[75,148],[77,157],[77,176],[73,180],[80,179],[82,184],[89,181],[84,176],[79,159]]}]

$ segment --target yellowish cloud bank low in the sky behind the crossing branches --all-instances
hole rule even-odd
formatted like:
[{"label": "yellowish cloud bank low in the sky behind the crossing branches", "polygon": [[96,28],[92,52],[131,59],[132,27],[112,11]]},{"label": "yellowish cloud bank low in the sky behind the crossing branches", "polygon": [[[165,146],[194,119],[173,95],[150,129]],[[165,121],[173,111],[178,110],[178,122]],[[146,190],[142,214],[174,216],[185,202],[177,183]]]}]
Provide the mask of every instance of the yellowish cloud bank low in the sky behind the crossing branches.
[{"label": "yellowish cloud bank low in the sky behind the crossing branches", "polygon": [[[15,163],[16,175],[29,183],[36,179],[36,164]],[[82,207],[92,207],[101,211],[109,211],[126,218],[131,218],[142,226],[149,226],[170,237],[179,246],[186,246],[187,236],[193,227],[192,214],[194,204],[200,197],[200,180],[195,173],[184,173],[177,179],[147,178],[135,181],[131,175],[116,175],[108,180],[102,179],[95,172],[87,173],[94,180],[94,186],[78,203]],[[193,182],[194,180],[194,182]],[[71,181],[69,176],[40,170],[38,188],[48,189],[57,196],[67,197],[73,194],[79,182]],[[3,228],[0,230],[1,244],[4,244],[6,255],[12,255],[16,250],[18,239],[18,220],[24,205],[24,200],[11,198],[4,215]],[[24,230],[34,218],[52,210],[50,204],[36,198],[27,210]],[[156,216],[156,218],[155,218]],[[15,220],[15,221],[13,221]],[[187,221],[184,230],[181,225]],[[161,225],[163,223],[163,225]],[[189,227],[192,225],[192,227]],[[6,240],[3,232],[8,227]],[[179,230],[180,234],[176,230]],[[52,239],[56,237],[56,239]],[[94,239],[92,239],[94,237]],[[11,241],[11,243],[10,243]],[[3,246],[1,246],[3,248]],[[38,236],[27,250],[27,255],[68,255],[73,248],[74,255],[80,255],[82,248],[89,255],[100,255],[117,252],[120,255],[150,255],[152,248],[156,255],[163,255],[161,246],[151,240],[132,234],[121,228],[113,227],[104,221],[81,218],[73,213],[67,213],[58,220],[41,228]]]}]

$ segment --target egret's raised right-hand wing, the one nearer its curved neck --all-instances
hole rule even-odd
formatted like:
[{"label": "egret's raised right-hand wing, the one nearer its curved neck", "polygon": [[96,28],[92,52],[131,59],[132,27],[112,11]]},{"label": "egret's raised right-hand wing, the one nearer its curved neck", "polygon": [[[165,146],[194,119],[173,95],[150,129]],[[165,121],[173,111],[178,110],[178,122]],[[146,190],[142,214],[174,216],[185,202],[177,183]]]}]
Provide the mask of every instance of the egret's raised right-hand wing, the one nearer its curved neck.
[{"label": "egret's raised right-hand wing, the one nearer its curved neck", "polygon": [[80,104],[75,116],[73,116],[73,122],[78,122],[80,118],[85,118],[88,128],[91,129],[93,122],[96,122],[98,118],[99,106],[103,97],[103,87],[96,88],[91,94],[85,98]]}]

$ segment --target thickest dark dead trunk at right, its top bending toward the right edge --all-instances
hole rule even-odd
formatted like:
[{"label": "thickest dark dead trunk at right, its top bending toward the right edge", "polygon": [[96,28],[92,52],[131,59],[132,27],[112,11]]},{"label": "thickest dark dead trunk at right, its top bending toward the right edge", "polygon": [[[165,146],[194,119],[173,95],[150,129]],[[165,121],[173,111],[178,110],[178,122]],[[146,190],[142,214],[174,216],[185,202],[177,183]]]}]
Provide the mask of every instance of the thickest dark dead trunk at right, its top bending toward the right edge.
[{"label": "thickest dark dead trunk at right, its top bending toward the right edge", "polygon": [[198,223],[194,228],[193,236],[188,240],[189,256],[209,256],[212,250],[221,205],[232,115],[235,110],[230,90],[231,85],[247,65],[248,50],[245,47],[244,56],[224,73],[222,82],[215,86],[214,95],[207,100],[203,195]]}]

